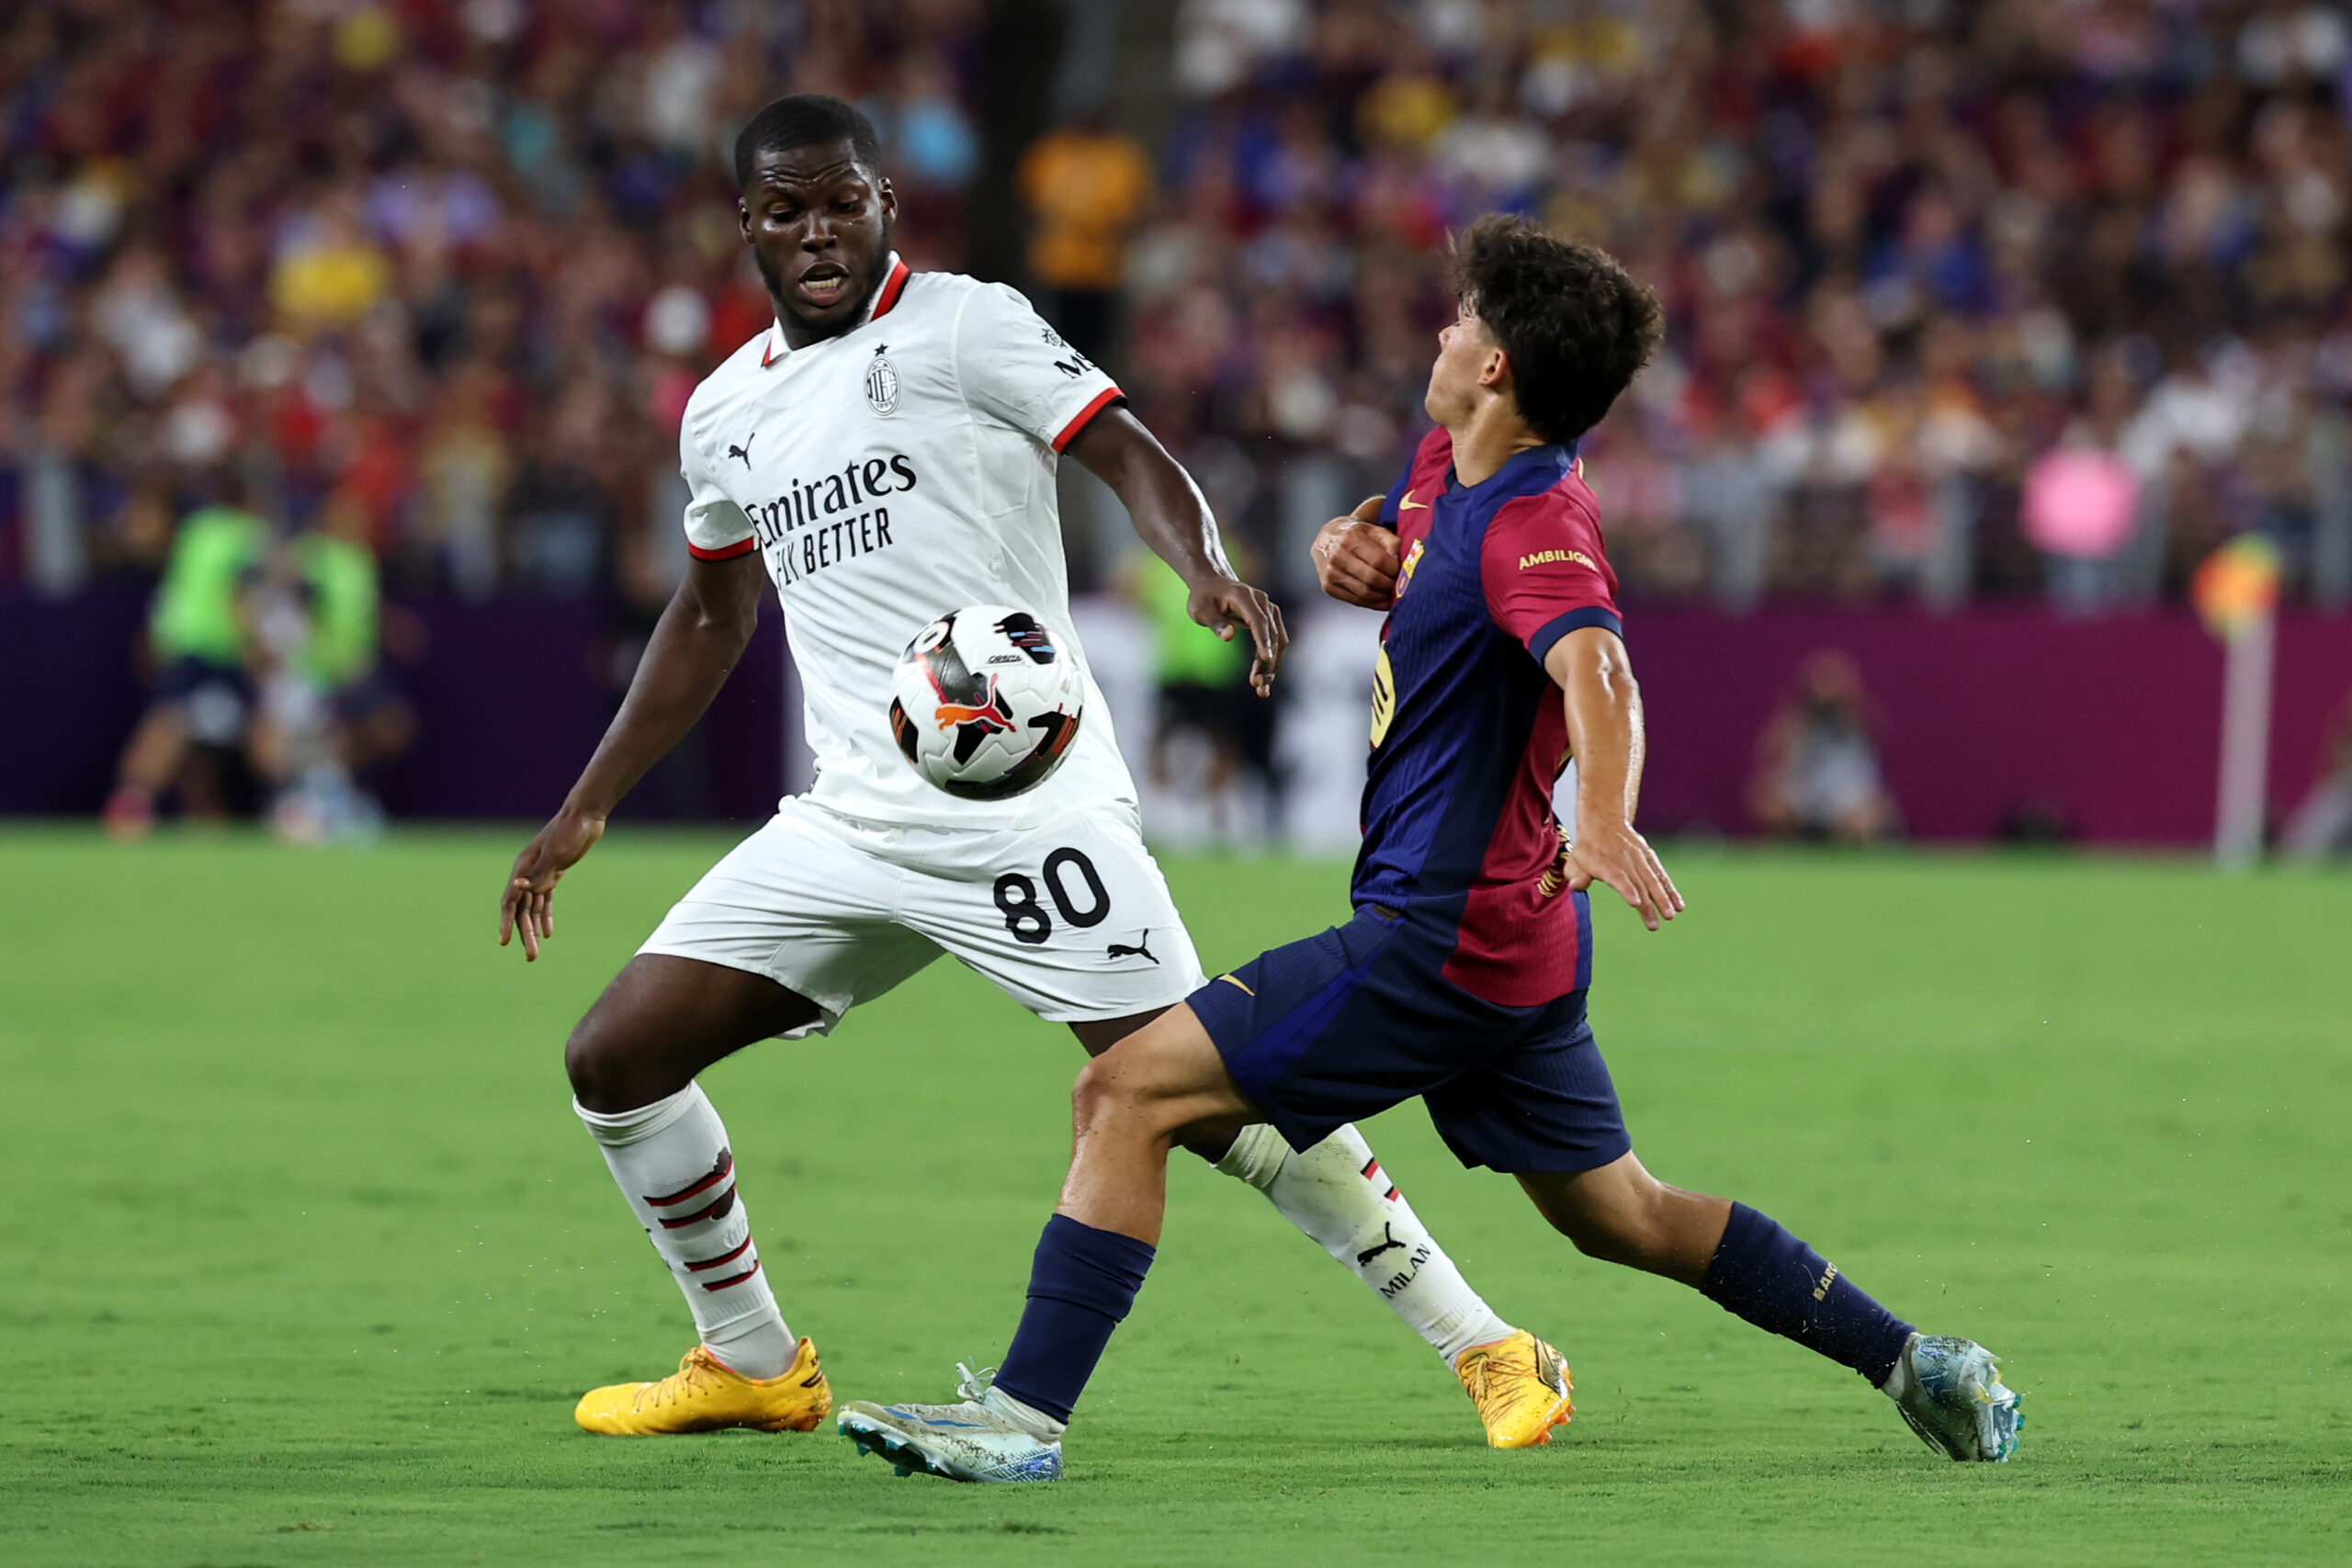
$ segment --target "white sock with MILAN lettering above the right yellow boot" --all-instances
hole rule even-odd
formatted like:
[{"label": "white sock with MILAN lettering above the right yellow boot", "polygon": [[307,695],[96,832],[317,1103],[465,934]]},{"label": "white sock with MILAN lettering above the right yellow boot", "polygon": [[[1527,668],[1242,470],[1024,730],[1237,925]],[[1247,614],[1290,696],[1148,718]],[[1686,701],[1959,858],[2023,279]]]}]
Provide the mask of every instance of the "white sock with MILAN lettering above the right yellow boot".
[{"label": "white sock with MILAN lettering above the right yellow boot", "polygon": [[1305,1154],[1291,1152],[1270,1126],[1244,1126],[1216,1168],[1272,1199],[1284,1220],[1355,1269],[1449,1366],[1472,1345],[1510,1338],[1510,1324],[1470,1288],[1352,1126]]}]

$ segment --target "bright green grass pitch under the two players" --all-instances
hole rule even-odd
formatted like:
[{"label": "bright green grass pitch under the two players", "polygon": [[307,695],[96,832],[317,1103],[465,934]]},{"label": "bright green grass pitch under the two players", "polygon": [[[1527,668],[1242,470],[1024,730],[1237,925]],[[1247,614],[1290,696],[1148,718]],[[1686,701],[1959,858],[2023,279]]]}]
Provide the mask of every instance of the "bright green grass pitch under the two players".
[{"label": "bright green grass pitch under the two players", "polygon": [[[1576,1368],[1552,1448],[1484,1450],[1435,1356],[1188,1161],[1070,1479],[997,1490],[830,1429],[572,1427],[689,1328],[557,1048],[722,839],[616,832],[534,969],[492,945],[515,842],[0,837],[0,1561],[2352,1561],[2352,879],[1691,849],[1684,922],[1599,910],[1651,1168],[1997,1347],[2016,1465],[1936,1460],[1853,1375],[1578,1258],[1402,1107],[1374,1147]],[[1169,872],[1211,966],[1345,875]],[[710,1074],[842,1396],[1002,1354],[1077,1060],[938,964]]]}]

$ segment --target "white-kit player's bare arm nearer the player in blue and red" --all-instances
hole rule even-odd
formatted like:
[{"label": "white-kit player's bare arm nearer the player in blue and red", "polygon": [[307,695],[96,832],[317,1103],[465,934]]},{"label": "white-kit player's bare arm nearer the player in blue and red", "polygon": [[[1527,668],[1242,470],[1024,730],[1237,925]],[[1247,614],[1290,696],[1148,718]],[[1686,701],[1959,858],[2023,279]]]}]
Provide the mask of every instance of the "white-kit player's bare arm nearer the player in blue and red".
[{"label": "white-kit player's bare arm nearer the player in blue and red", "polygon": [[1272,693],[1275,670],[1291,642],[1282,607],[1235,576],[1216,536],[1216,517],[1192,475],[1127,409],[1098,414],[1077,433],[1068,454],[1112,489],[1143,543],[1185,581],[1195,621],[1228,642],[1237,630],[1249,632],[1256,651],[1249,684],[1258,696]]}]

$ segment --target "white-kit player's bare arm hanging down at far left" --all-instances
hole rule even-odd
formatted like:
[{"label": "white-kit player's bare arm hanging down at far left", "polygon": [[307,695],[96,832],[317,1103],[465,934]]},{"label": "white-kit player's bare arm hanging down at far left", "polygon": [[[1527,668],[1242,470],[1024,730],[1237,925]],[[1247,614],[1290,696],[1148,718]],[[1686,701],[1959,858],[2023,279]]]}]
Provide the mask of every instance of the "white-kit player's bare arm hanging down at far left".
[{"label": "white-kit player's bare arm hanging down at far left", "polygon": [[689,562],[670,595],[612,729],[597,743],[562,809],[548,818],[508,875],[499,898],[499,945],[522,931],[522,957],[555,936],[555,884],[604,837],[604,818],[647,769],[684,738],[710,708],[760,628],[767,576],[755,557]]}]

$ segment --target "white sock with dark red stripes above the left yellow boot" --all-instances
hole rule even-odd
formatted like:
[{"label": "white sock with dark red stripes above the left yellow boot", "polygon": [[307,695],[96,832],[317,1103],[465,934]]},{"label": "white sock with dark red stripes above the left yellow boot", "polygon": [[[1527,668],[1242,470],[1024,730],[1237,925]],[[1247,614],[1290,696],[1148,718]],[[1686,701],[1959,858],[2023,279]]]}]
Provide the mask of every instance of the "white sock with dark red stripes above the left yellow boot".
[{"label": "white sock with dark red stripes above the left yellow boot", "polygon": [[793,1366],[793,1331],[760,1269],[750,1218],[736,1197],[727,1126],[703,1086],[687,1084],[668,1100],[616,1117],[579,1100],[572,1110],[604,1150],[621,1197],[677,1276],[710,1354],[746,1378],[781,1378]]}]

